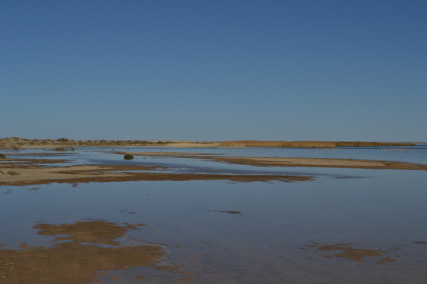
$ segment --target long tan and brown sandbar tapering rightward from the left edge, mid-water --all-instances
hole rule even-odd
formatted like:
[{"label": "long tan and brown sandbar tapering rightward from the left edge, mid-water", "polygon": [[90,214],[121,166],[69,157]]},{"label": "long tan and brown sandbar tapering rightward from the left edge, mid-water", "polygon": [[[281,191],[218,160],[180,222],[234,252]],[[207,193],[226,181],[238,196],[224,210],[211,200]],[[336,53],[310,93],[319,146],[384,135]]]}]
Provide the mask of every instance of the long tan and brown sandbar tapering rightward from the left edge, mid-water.
[{"label": "long tan and brown sandbar tapering rightward from the left edge, mid-water", "polygon": [[[169,168],[146,167],[137,165],[75,165],[69,167],[52,168],[36,168],[35,166],[23,165],[21,167],[16,166],[15,168],[0,168],[0,170],[3,172],[3,174],[0,173],[0,186],[44,185],[53,182],[124,182],[139,180],[226,180],[228,182],[296,182],[313,180],[312,177],[293,175],[211,175],[195,173],[167,173],[167,170],[170,170]],[[6,174],[9,170],[14,170],[14,172],[19,173],[19,175]],[[164,170],[165,173],[147,172],[152,170]]]}]

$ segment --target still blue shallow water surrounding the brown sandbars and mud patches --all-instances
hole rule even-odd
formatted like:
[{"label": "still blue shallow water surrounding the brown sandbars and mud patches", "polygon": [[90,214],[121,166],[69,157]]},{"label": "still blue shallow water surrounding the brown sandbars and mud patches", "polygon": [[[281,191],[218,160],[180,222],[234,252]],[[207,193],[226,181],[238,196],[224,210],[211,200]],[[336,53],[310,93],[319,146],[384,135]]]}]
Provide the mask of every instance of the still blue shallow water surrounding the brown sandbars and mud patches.
[{"label": "still blue shallow water surrounding the brown sandbars and mud patches", "polygon": [[[394,147],[396,148],[396,147]],[[413,149],[413,148],[410,148]],[[111,149],[107,149],[111,151]],[[53,153],[22,150],[14,153]],[[127,148],[115,148],[127,151]],[[426,164],[427,147],[413,150],[129,148],[129,151],[218,153],[393,160]],[[128,239],[165,245],[170,261],[194,273],[194,283],[422,283],[427,282],[427,173],[421,170],[266,168],[192,158],[153,158],[83,148],[49,159],[80,164],[164,165],[176,173],[312,175],[305,182],[159,181],[0,187],[0,249],[49,246],[36,222],[64,224],[102,219],[143,223]],[[11,153],[10,153],[11,154]],[[7,153],[7,155],[10,155]],[[18,156],[16,156],[18,158]],[[23,156],[19,156],[23,158]],[[25,158],[41,158],[25,156]],[[228,214],[218,211],[239,211]],[[126,242],[125,240],[122,240]],[[421,242],[416,244],[415,242]],[[384,251],[352,261],[320,246],[353,244]],[[395,262],[378,264],[385,257]],[[1,273],[1,271],[0,271]],[[111,271],[122,283],[171,283],[176,275],[153,268]],[[148,278],[136,280],[135,275]],[[111,276],[110,276],[111,277]],[[117,283],[101,278],[103,283]]]}]

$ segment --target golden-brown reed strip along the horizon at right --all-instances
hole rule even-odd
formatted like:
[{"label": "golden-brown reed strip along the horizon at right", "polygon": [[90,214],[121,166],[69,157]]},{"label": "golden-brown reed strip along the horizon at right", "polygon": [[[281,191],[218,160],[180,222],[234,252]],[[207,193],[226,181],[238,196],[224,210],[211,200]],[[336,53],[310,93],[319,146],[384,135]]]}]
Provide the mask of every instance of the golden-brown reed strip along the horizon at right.
[{"label": "golden-brown reed strip along the horizon at right", "polygon": [[336,147],[378,147],[416,146],[414,143],[382,142],[332,142],[332,141],[223,141],[221,147],[284,147],[284,148],[336,148]]}]

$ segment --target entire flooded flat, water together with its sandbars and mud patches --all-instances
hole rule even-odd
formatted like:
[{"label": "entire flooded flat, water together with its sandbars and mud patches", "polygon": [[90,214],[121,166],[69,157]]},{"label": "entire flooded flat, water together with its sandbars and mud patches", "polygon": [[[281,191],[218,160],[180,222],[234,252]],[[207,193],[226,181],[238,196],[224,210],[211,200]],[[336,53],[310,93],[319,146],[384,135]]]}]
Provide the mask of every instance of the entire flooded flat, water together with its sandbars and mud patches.
[{"label": "entire flooded flat, water together with its sandbars and mud patches", "polygon": [[0,283],[427,283],[426,146],[1,153]]}]

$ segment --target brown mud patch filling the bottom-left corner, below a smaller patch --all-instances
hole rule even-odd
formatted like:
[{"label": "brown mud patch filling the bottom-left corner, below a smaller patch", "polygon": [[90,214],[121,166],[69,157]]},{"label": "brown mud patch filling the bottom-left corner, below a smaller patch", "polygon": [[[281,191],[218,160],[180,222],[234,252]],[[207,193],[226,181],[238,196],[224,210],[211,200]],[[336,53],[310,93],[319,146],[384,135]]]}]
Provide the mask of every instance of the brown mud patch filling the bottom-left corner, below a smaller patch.
[{"label": "brown mud patch filling the bottom-left corner, below a smaller patch", "polygon": [[2,283],[93,283],[97,271],[117,271],[155,266],[166,256],[159,246],[101,248],[75,242],[56,244],[50,249],[0,250],[1,259],[11,265],[3,271]]}]

